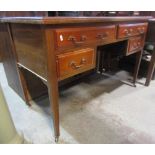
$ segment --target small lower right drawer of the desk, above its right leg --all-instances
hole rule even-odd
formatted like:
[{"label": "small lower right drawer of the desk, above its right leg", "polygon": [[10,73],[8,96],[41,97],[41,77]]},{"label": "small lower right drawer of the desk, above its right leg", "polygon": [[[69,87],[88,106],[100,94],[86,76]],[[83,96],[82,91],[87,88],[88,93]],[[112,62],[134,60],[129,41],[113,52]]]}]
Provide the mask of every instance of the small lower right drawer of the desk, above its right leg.
[{"label": "small lower right drawer of the desk, above its right leg", "polygon": [[144,39],[141,36],[130,38],[127,55],[132,54],[143,48]]}]

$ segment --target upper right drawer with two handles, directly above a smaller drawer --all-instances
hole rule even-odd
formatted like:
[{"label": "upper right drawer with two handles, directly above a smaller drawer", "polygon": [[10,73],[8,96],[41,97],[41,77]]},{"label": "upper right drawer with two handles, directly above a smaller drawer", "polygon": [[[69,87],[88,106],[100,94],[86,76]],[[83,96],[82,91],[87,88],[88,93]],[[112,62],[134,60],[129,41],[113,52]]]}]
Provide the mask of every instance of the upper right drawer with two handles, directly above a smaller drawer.
[{"label": "upper right drawer with two handles, directly above a smaller drawer", "polygon": [[118,26],[118,38],[126,38],[147,32],[147,23],[120,24]]}]

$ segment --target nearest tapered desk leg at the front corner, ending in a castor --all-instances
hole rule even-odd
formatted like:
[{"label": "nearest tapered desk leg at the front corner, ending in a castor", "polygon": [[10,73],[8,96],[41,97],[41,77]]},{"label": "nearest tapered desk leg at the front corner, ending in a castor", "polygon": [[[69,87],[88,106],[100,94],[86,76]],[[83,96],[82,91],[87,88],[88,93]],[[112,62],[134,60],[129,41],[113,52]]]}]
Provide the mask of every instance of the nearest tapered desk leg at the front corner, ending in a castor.
[{"label": "nearest tapered desk leg at the front corner, ending in a castor", "polygon": [[59,92],[58,92],[58,77],[56,69],[56,56],[54,51],[54,35],[51,30],[46,30],[46,48],[47,48],[47,86],[50,100],[50,107],[54,125],[55,142],[58,141],[59,131]]}]

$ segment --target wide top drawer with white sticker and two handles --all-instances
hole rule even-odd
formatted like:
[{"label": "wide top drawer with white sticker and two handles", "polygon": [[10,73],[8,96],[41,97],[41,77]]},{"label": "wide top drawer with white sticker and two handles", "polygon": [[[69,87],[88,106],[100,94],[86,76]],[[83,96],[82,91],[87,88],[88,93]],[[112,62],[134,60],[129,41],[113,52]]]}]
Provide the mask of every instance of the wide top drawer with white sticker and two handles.
[{"label": "wide top drawer with white sticker and two handles", "polygon": [[57,48],[76,47],[115,39],[116,26],[56,29],[55,35]]}]

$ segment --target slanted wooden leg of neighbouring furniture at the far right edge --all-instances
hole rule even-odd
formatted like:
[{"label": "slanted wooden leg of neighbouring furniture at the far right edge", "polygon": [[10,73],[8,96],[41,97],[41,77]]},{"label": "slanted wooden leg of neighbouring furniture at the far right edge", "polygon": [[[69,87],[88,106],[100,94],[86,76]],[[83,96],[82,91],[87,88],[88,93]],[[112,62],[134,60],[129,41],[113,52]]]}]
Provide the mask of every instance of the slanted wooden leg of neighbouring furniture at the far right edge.
[{"label": "slanted wooden leg of neighbouring furniture at the far right edge", "polygon": [[154,68],[155,68],[155,50],[153,51],[152,58],[151,58],[151,61],[150,61],[150,64],[149,64],[149,68],[148,68],[148,72],[147,72],[147,76],[146,76],[145,86],[150,85],[150,81],[151,81],[152,76],[153,76]]}]

